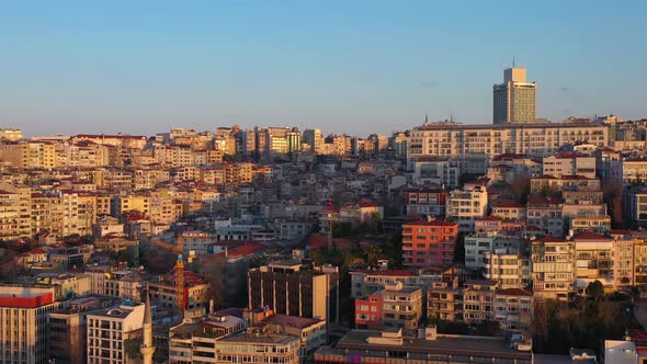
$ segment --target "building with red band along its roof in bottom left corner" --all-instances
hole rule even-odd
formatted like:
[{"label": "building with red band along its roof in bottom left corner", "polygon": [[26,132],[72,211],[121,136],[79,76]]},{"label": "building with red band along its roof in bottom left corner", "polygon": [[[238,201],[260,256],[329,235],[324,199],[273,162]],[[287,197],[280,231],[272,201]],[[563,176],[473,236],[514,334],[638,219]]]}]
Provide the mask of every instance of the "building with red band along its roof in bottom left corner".
[{"label": "building with red band along its roof in bottom left corner", "polygon": [[0,293],[0,362],[47,363],[47,314],[63,307],[54,288],[3,286]]}]

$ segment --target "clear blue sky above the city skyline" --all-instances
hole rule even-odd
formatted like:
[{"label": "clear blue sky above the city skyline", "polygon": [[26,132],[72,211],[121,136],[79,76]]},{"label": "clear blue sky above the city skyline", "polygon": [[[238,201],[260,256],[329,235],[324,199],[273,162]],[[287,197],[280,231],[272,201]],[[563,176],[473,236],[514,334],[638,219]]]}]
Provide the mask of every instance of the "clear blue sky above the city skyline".
[{"label": "clear blue sky above the city skyline", "polygon": [[491,123],[512,55],[538,83],[537,116],[647,117],[646,14],[647,1],[1,1],[0,127]]}]

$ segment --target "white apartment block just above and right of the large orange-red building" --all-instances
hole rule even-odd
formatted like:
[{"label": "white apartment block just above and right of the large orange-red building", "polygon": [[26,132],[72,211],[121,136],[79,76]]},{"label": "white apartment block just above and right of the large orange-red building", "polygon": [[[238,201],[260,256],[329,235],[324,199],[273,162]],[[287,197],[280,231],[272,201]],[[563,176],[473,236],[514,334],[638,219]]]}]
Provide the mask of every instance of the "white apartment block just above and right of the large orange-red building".
[{"label": "white apartment block just above and right of the large orange-red building", "polygon": [[487,216],[488,191],[476,185],[454,190],[447,196],[447,219],[458,224],[458,231],[474,232],[474,221]]}]

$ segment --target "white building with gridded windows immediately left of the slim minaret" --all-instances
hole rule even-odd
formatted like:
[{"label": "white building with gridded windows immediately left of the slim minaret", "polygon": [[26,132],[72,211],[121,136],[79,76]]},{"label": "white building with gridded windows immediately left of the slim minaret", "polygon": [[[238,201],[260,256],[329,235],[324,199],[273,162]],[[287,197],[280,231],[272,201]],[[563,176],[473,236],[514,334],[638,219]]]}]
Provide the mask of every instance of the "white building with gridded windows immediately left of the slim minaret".
[{"label": "white building with gridded windows immediately left of the slim minaret", "polygon": [[145,305],[124,303],[88,315],[88,364],[127,364],[125,341],[143,328]]}]

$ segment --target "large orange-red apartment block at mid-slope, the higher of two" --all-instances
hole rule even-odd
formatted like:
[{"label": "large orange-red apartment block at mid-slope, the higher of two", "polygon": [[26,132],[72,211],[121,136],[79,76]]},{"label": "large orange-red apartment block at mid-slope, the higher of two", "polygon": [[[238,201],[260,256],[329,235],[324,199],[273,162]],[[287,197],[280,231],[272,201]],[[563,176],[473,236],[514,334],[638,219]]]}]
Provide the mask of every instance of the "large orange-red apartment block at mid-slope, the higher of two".
[{"label": "large orange-red apartment block at mid-slope, the higher of two", "polygon": [[446,265],[454,260],[458,224],[435,219],[402,225],[402,258],[406,266]]}]

